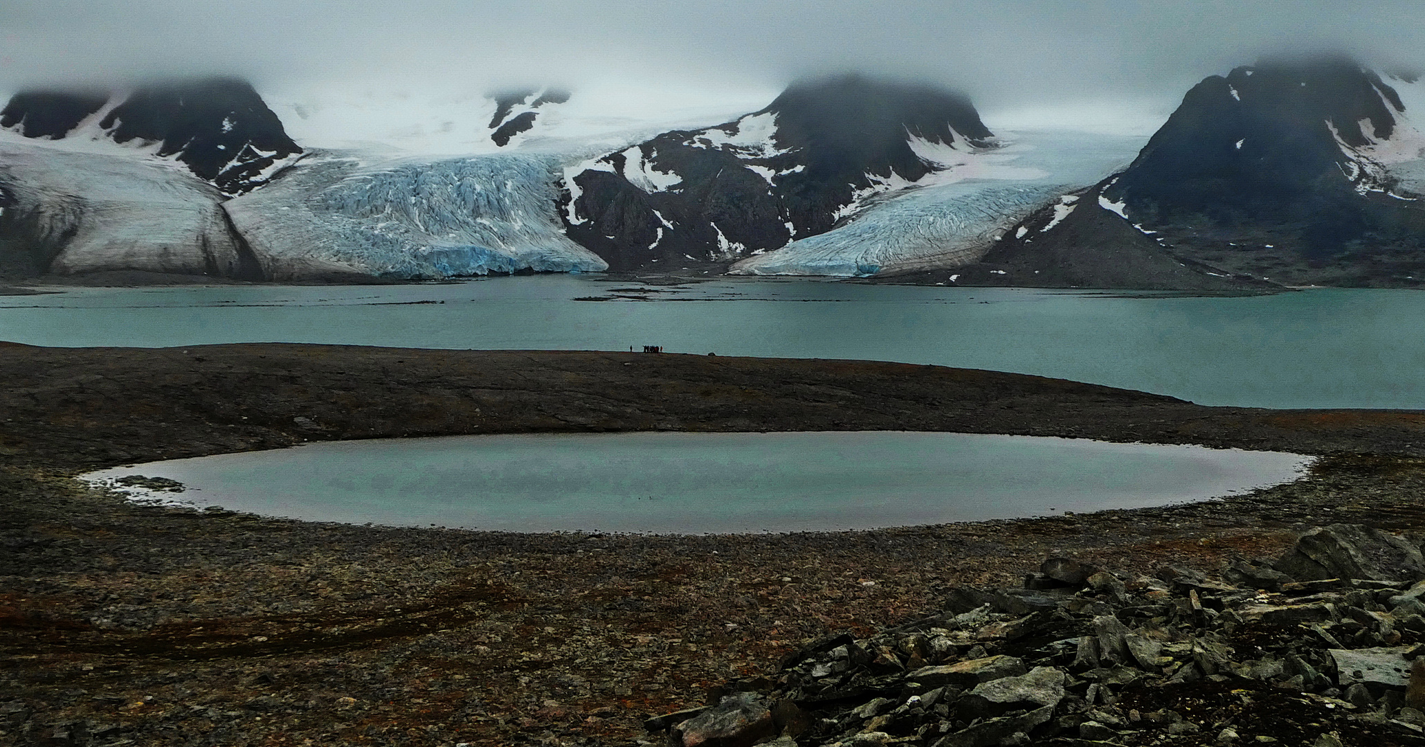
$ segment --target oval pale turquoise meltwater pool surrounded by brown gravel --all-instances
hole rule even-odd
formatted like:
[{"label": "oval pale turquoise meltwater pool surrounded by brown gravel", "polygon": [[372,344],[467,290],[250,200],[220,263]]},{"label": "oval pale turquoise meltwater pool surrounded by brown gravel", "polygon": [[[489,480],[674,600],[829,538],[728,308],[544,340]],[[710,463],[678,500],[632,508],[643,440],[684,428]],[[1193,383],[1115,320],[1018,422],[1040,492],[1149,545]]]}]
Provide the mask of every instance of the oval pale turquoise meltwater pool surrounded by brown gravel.
[{"label": "oval pale turquoise meltwater pool surrounded by brown gravel", "polygon": [[[628,433],[338,441],[90,472],[195,507],[550,532],[869,529],[1137,508],[1291,481],[1308,457],[952,433]],[[138,491],[142,492],[142,491]]]}]

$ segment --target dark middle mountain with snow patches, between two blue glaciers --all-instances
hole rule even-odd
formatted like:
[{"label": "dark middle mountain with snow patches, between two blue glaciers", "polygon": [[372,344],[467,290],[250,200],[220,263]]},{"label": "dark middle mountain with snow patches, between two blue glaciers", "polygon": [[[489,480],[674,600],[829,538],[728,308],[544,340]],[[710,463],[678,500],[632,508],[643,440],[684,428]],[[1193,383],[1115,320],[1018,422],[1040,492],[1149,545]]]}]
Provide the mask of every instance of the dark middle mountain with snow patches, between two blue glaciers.
[{"label": "dark middle mountain with snow patches, between two blue glaciers", "polygon": [[570,169],[563,215],[569,236],[614,270],[724,267],[926,176],[936,165],[916,145],[988,147],[992,137],[956,92],[859,75],[808,81],[731,122]]}]

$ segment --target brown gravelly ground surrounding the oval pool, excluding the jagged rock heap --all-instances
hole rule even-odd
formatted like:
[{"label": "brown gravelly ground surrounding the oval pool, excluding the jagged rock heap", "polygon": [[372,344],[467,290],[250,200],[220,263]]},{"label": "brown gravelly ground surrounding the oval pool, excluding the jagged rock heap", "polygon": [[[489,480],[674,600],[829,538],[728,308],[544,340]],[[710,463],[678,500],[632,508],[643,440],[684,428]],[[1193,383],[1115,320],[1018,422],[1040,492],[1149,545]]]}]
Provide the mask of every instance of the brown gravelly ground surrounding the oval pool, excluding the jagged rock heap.
[{"label": "brown gravelly ground surrounding the oval pool, excluding the jagged rock heap", "polygon": [[[142,507],[71,478],[304,440],[866,428],[1327,457],[1206,504],[734,536],[302,524]],[[1013,585],[1049,555],[1211,569],[1278,552],[1300,524],[1425,528],[1422,451],[1425,413],[1210,408],[928,366],[6,346],[0,744],[633,743],[644,716],[805,639],[916,618],[955,585]]]}]

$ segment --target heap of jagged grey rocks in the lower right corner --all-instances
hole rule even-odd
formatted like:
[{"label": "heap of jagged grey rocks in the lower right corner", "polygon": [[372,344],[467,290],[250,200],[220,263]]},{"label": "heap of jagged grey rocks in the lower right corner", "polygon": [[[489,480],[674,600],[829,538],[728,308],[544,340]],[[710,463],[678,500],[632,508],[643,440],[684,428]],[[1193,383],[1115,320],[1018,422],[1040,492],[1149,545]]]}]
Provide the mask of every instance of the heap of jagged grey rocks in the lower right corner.
[{"label": "heap of jagged grey rocks in the lower right corner", "polygon": [[822,639],[646,726],[675,747],[1425,744],[1418,542],[1315,528],[1221,579],[1052,558],[1023,589],[953,589],[943,613]]}]

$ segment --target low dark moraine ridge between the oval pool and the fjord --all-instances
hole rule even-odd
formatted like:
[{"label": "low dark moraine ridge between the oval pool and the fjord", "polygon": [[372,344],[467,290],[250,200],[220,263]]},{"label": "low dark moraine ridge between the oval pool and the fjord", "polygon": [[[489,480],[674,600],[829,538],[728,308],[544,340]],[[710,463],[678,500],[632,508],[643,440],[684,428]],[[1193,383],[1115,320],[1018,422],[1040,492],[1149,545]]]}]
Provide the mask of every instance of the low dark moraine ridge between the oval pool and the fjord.
[{"label": "low dark moraine ridge between the oval pool and the fjord", "polygon": [[[601,431],[909,430],[1425,452],[1416,413],[1203,407],[901,363],[278,343],[4,351],[0,447],[64,468],[308,440]],[[1342,421],[1369,430],[1318,425]]]}]

